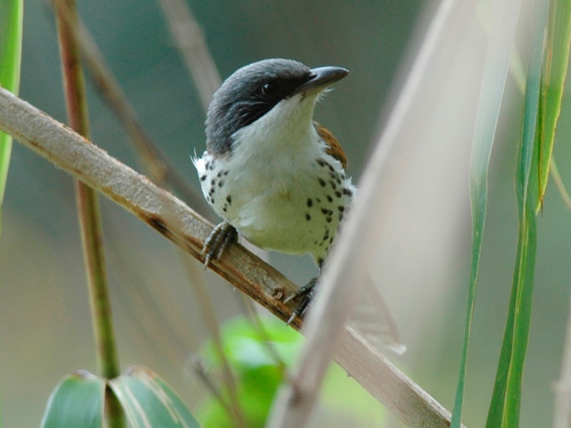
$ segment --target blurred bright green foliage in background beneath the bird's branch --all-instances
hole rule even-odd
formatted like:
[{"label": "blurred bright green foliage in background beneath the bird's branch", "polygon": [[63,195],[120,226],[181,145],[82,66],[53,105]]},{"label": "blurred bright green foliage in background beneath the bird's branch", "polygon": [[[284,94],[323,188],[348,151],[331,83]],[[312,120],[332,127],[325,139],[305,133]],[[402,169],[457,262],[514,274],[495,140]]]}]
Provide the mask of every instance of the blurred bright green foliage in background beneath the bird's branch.
[{"label": "blurred bright green foliage in background beneath the bird's branch", "polygon": [[[224,324],[221,337],[224,351],[237,375],[246,425],[248,428],[264,427],[273,398],[283,382],[284,369],[295,362],[303,336],[277,319],[264,318],[263,332],[260,332],[248,319],[236,318]],[[207,344],[202,354],[208,375],[216,377],[221,364],[213,345]],[[327,409],[328,417],[342,416],[346,418],[343,421],[351,421],[354,426],[370,427],[383,422],[383,411],[378,402],[336,364],[331,364],[325,378],[321,404]],[[231,426],[231,419],[216,397],[209,397],[201,404],[198,417],[204,427]]]}]

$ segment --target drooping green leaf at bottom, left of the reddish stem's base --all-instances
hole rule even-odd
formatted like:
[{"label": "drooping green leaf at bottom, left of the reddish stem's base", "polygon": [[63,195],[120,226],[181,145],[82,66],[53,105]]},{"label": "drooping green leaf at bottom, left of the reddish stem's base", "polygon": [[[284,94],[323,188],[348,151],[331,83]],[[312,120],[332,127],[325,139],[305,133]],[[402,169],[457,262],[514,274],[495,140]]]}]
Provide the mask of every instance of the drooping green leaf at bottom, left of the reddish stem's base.
[{"label": "drooping green leaf at bottom, left of the reddish stem's base", "polygon": [[42,428],[101,428],[106,381],[81,370],[67,375],[51,393]]}]

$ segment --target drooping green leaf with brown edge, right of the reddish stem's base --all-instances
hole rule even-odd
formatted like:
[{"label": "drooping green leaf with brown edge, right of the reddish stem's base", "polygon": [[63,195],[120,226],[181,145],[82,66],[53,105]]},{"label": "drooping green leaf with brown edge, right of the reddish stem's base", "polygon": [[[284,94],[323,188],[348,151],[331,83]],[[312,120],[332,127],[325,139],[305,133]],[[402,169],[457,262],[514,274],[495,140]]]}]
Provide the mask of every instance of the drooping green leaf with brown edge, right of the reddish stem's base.
[{"label": "drooping green leaf with brown edge, right of the reddish stem's base", "polygon": [[178,394],[151,369],[129,367],[126,374],[109,381],[109,386],[131,427],[200,427]]}]

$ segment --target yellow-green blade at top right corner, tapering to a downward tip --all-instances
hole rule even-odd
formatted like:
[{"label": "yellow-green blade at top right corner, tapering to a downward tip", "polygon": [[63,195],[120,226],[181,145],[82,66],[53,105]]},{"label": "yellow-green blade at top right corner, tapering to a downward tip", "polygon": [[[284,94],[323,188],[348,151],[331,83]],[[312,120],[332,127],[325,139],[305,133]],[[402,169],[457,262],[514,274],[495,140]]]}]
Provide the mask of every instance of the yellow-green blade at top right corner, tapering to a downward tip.
[{"label": "yellow-green blade at top right corner, tapering to a downward tip", "polygon": [[[543,57],[541,114],[537,124],[539,150],[537,164],[539,183],[534,181],[535,210],[541,207],[550,159],[555,140],[555,127],[561,110],[563,86],[569,64],[571,46],[571,1],[551,0],[547,21],[547,40]],[[537,189],[538,187],[538,189]]]}]

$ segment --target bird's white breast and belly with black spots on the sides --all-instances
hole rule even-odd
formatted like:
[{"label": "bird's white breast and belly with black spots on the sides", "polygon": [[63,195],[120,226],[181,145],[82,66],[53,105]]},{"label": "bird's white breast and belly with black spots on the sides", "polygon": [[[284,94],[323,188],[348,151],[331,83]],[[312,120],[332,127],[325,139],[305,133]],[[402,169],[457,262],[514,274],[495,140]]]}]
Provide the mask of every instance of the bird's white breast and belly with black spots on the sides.
[{"label": "bird's white breast and belly with black spots on the sides", "polygon": [[288,254],[311,252],[317,261],[354,188],[304,111],[313,104],[295,97],[282,103],[236,132],[231,153],[214,159],[205,152],[194,164],[208,202],[248,241]]}]

